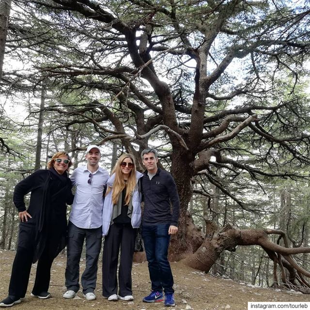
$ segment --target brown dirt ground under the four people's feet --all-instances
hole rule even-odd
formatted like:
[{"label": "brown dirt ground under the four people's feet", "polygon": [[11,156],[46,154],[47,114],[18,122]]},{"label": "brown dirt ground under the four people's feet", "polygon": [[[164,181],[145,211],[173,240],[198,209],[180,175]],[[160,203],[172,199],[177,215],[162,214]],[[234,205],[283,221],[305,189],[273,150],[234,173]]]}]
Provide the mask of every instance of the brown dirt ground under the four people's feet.
[{"label": "brown dirt ground under the four people's feet", "polygon": [[[7,296],[11,275],[14,251],[0,251],[0,299]],[[97,299],[87,301],[82,292],[74,299],[62,298],[65,292],[64,269],[65,257],[57,257],[52,266],[52,275],[49,292],[52,298],[40,300],[31,297],[31,288],[35,275],[35,264],[31,269],[31,278],[26,298],[13,309],[16,310],[167,310],[163,303],[147,304],[142,297],[150,292],[150,280],[147,263],[134,263],[132,270],[133,295],[131,302],[108,301],[102,296],[101,261],[99,262]],[[81,261],[81,270],[85,261]],[[246,310],[249,301],[309,301],[309,295],[296,292],[277,291],[274,289],[261,289],[247,284],[240,284],[232,280],[217,279],[191,269],[182,262],[171,263],[174,276],[176,310]],[[173,308],[172,308],[173,309]]]}]

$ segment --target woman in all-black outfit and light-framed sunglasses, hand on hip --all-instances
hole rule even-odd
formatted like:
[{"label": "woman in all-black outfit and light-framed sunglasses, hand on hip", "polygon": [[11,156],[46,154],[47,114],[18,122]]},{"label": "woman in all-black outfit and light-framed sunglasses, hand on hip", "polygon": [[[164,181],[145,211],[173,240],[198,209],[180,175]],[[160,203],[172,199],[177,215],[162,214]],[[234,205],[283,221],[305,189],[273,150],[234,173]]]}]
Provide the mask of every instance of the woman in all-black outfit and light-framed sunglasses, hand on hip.
[{"label": "woman in all-black outfit and light-framed sunglasses, hand on hip", "polygon": [[[31,296],[41,299],[48,293],[50,269],[54,258],[65,247],[66,203],[72,204],[71,181],[67,171],[72,165],[65,152],[57,152],[48,162],[48,170],[38,170],[19,182],[13,202],[20,219],[18,244],[9,286],[9,295],[0,307],[11,307],[25,297],[31,263],[38,261]],[[24,196],[31,192],[26,210]]]}]

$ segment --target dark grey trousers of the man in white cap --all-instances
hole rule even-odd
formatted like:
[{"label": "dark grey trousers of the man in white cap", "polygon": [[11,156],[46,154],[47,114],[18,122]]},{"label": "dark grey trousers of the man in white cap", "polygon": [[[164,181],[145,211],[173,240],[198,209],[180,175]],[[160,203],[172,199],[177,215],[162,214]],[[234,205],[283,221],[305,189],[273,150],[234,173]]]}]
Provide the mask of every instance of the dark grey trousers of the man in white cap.
[{"label": "dark grey trousers of the man in white cap", "polygon": [[69,221],[65,285],[67,290],[72,290],[76,293],[79,290],[79,261],[84,240],[86,240],[86,267],[81,277],[81,284],[83,293],[86,294],[93,292],[96,288],[102,227],[90,229],[78,228]]}]

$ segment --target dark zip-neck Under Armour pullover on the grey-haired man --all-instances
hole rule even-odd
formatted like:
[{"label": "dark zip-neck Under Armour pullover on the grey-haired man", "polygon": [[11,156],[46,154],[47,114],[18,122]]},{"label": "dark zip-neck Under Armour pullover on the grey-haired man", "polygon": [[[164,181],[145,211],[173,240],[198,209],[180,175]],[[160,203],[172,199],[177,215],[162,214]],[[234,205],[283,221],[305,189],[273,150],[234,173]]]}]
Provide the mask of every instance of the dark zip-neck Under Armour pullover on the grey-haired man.
[{"label": "dark zip-neck Under Armour pullover on the grey-haired man", "polygon": [[168,171],[157,168],[152,180],[145,171],[142,177],[142,191],[144,198],[142,225],[178,226],[179,195],[174,179]]}]

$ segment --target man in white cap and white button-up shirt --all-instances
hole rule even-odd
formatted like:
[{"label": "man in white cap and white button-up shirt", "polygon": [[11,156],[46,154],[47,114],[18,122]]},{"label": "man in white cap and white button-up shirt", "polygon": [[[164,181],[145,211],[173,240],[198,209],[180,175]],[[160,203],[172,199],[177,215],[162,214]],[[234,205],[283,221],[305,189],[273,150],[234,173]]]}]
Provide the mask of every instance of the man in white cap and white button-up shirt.
[{"label": "man in white cap and white button-up shirt", "polygon": [[97,263],[102,240],[103,192],[109,173],[99,167],[100,149],[90,145],[86,151],[87,165],[78,167],[71,176],[76,194],[68,224],[67,266],[63,298],[74,298],[79,290],[79,261],[86,239],[86,267],[81,277],[83,295],[96,299]]}]

